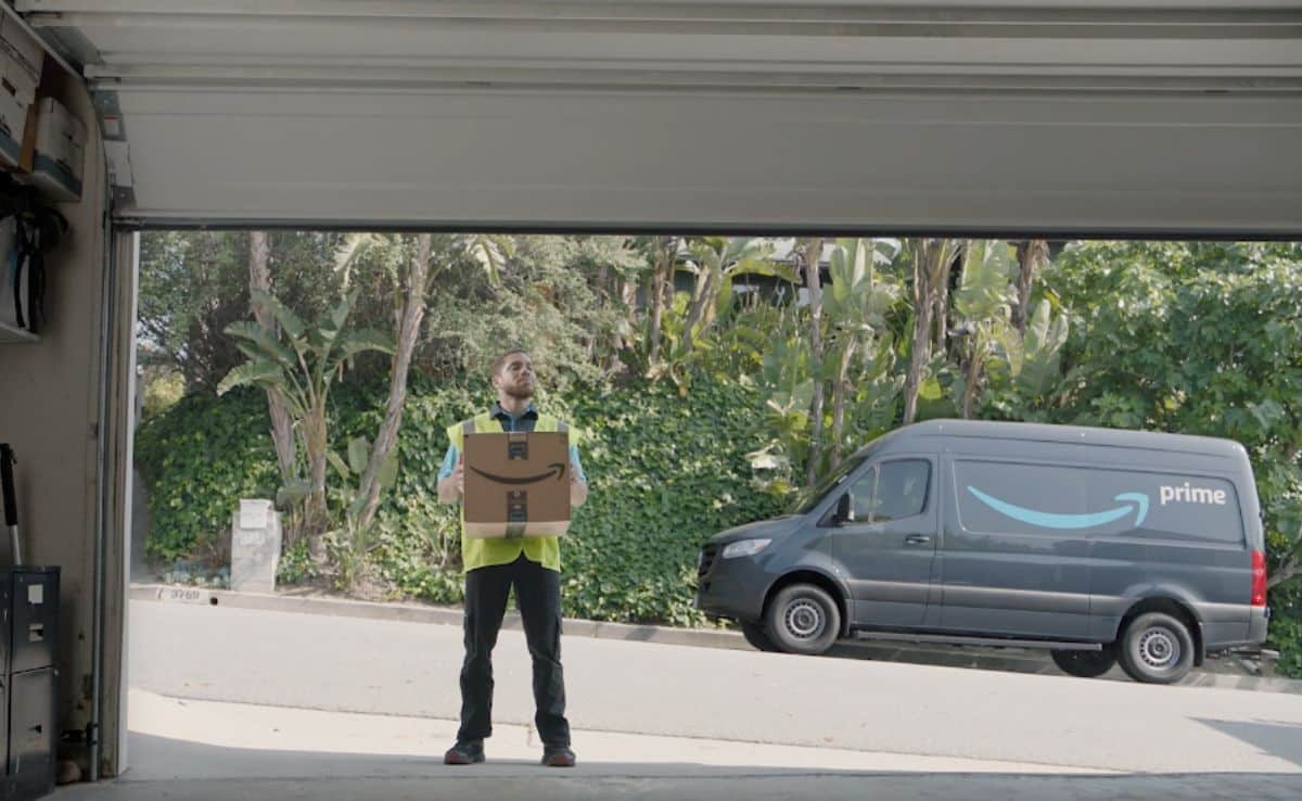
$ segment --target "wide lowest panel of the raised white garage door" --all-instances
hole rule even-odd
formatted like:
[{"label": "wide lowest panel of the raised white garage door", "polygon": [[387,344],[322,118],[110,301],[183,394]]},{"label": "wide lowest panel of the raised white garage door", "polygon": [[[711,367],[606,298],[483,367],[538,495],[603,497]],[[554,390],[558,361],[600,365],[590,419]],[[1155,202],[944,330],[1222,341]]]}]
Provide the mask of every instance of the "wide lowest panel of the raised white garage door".
[{"label": "wide lowest panel of the raised white garage door", "polygon": [[[835,100],[818,120],[807,100],[802,115],[783,115],[775,102],[736,99],[517,107],[426,95],[388,98],[401,113],[333,95],[316,113],[298,98],[301,113],[245,119],[133,100],[122,98],[133,150],[151,154],[135,165],[147,215],[997,228],[1016,219],[1143,231],[1181,224],[1164,208],[1202,208],[1200,224],[1267,229],[1286,227],[1302,182],[1295,160],[1271,158],[1295,141],[1298,129],[1282,125],[999,124],[990,108],[980,120],[927,119],[926,108],[909,120],[907,103],[893,113],[862,103],[854,116]],[[1238,151],[1189,169],[1226,148]],[[191,162],[194,152],[203,158]]]}]

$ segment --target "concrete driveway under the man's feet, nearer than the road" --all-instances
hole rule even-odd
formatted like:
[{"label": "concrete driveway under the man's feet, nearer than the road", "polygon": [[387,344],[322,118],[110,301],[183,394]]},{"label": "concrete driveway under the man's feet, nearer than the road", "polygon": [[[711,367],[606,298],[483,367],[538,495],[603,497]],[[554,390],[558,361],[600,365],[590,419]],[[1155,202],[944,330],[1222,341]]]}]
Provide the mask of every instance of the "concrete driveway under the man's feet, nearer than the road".
[{"label": "concrete driveway under the man's feet, nearer than the road", "polygon": [[547,770],[527,727],[499,725],[490,762],[430,754],[449,720],[355,715],[133,690],[133,767],[56,801],[552,798],[997,798],[1000,801],[1302,797],[1298,774],[1125,775],[1052,765],[577,732],[581,765]]}]

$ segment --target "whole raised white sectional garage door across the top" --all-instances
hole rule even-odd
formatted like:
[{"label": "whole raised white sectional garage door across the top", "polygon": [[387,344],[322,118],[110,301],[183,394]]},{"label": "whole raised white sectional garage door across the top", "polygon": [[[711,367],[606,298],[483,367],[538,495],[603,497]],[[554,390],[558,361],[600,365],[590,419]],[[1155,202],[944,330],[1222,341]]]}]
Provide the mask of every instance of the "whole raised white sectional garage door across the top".
[{"label": "whole raised white sectional garage door across the top", "polygon": [[145,224],[1302,234],[1302,0],[16,5]]}]

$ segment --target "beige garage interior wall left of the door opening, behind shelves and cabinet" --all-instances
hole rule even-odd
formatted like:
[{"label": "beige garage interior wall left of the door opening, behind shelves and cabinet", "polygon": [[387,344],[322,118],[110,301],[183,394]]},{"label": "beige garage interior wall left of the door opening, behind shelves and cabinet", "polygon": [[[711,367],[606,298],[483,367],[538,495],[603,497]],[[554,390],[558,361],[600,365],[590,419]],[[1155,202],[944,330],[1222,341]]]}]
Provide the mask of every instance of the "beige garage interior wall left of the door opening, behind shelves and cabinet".
[{"label": "beige garage interior wall left of the door opening, behind shelves and cabinet", "polygon": [[[105,509],[102,501],[115,494],[121,498],[121,488],[105,487],[103,495],[96,491],[102,479],[109,478],[100,469],[102,447],[109,452],[118,447],[102,436],[112,431],[102,431],[100,419],[105,400],[100,393],[104,313],[112,307],[104,294],[107,186],[95,112],[82,82],[47,61],[40,94],[57,98],[90,122],[83,193],[78,203],[57,204],[69,233],[47,257],[48,322],[40,341],[0,344],[0,440],[13,444],[17,458],[23,561],[62,568],[59,725],[85,731],[95,705],[96,534]],[[117,336],[130,332],[126,326]],[[121,512],[120,503],[109,511]],[[9,564],[8,551],[4,537],[3,564]],[[116,593],[121,594],[121,570],[116,573]],[[113,630],[105,632],[105,641],[121,639],[122,623],[121,616],[111,623]],[[116,741],[116,727],[102,733]],[[85,754],[89,758],[89,749]],[[86,771],[90,766],[82,767]]]}]

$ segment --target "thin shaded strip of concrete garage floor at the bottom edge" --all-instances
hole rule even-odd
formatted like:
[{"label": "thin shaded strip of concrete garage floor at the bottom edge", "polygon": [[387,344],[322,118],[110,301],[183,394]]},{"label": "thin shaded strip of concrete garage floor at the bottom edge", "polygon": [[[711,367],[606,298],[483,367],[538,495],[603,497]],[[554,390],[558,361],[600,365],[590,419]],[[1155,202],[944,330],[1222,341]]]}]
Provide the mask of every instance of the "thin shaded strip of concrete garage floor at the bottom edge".
[{"label": "thin shaded strip of concrete garage floor at the bottom edge", "polygon": [[[434,768],[352,763],[346,779],[230,778],[224,780],[124,781],[56,793],[56,801],[1297,801],[1302,783],[1275,776],[1077,776],[745,771],[609,763],[540,776],[516,767]],[[381,775],[381,771],[384,775]]]}]

